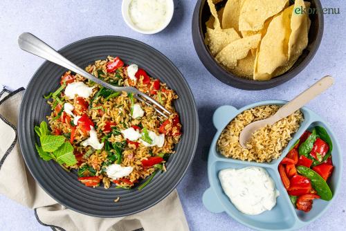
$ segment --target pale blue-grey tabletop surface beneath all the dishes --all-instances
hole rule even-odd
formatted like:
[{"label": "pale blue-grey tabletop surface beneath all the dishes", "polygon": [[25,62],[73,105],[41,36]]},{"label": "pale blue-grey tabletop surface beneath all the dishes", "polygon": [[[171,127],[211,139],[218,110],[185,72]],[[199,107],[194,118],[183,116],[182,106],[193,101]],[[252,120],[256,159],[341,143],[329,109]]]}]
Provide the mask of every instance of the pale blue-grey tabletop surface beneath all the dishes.
[{"label": "pale blue-grey tabletop surface beneath all the dishes", "polygon": [[[345,1],[322,0],[322,6],[340,8],[340,15],[325,15],[325,33],[316,57],[299,76],[266,91],[242,91],[222,84],[203,67],[192,44],[191,20],[196,1],[175,0],[171,24],[156,35],[141,35],[129,29],[121,17],[121,1],[1,0],[0,14],[0,84],[10,89],[26,86],[42,59],[17,47],[20,33],[31,32],[54,48],[95,35],[131,37],[160,50],[174,62],[188,80],[197,100],[200,119],[199,147],[188,174],[178,187],[191,230],[249,230],[223,214],[208,212],[201,196],[209,187],[207,178],[208,146],[215,133],[212,112],[231,104],[243,107],[260,100],[290,100],[322,75],[332,75],[332,89],[310,102],[308,107],[324,117],[333,127],[340,145],[345,148]],[[344,158],[344,172],[346,159]],[[16,169],[14,169],[16,171]],[[346,223],[346,185],[325,216],[302,230],[341,230]],[[167,218],[170,219],[170,218]],[[0,230],[50,230],[37,223],[33,210],[0,195]]]}]

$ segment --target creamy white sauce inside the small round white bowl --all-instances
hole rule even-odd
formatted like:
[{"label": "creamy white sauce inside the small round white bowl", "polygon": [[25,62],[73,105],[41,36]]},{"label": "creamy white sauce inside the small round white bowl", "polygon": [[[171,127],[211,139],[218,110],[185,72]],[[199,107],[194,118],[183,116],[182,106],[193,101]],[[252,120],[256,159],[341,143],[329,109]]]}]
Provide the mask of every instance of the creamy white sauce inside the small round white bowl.
[{"label": "creamy white sauce inside the small round white bowl", "polygon": [[167,0],[132,0],[129,17],[141,30],[156,30],[167,22]]}]

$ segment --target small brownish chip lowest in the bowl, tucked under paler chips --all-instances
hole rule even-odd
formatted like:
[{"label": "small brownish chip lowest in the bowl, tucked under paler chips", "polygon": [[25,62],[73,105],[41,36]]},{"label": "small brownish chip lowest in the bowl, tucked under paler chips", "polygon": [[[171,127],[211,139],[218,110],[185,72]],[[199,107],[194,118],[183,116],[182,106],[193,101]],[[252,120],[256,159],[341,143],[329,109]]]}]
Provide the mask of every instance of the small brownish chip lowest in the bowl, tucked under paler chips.
[{"label": "small brownish chip lowest in the bowl, tucked under paler chips", "polygon": [[253,66],[255,63],[255,57],[248,52],[248,55],[244,59],[239,59],[237,66],[230,68],[230,72],[246,79],[253,79]]}]

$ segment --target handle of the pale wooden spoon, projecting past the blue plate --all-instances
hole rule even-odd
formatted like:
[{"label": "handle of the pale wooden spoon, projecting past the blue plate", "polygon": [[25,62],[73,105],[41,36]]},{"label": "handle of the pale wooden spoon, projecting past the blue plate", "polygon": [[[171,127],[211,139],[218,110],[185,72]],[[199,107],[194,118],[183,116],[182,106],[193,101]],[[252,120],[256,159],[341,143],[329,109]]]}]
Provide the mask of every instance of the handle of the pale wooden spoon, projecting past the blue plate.
[{"label": "handle of the pale wooden spoon, projecting past the blue plate", "polygon": [[295,97],[287,104],[284,104],[284,106],[281,107],[277,111],[277,113],[275,113],[275,115],[273,115],[271,124],[274,124],[278,120],[291,115],[292,113],[303,107],[305,104],[307,104],[310,100],[313,100],[314,98],[316,98],[316,96],[320,95],[320,93],[329,89],[329,87],[333,85],[333,83],[333,77],[329,75],[322,77],[322,79],[318,80],[318,82],[310,86],[309,89],[300,93],[300,95]]}]

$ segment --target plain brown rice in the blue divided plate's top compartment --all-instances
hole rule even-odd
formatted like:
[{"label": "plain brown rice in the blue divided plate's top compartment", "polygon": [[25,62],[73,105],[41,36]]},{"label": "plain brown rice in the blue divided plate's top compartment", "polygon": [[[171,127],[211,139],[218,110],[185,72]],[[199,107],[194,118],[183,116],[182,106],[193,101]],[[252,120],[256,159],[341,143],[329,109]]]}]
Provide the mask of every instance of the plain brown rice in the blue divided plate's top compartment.
[{"label": "plain brown rice in the blue divided plate's top compartment", "polygon": [[239,143],[240,132],[246,125],[257,120],[264,120],[274,115],[280,109],[277,105],[265,105],[248,109],[237,115],[222,131],[217,140],[217,149],[223,156],[239,160],[256,161],[259,163],[271,162],[279,158],[282,150],[293,138],[304,120],[301,111],[279,120],[272,126],[263,127],[246,143],[244,149]]}]

